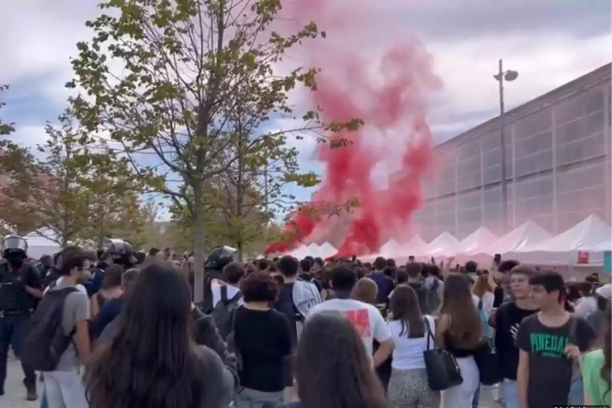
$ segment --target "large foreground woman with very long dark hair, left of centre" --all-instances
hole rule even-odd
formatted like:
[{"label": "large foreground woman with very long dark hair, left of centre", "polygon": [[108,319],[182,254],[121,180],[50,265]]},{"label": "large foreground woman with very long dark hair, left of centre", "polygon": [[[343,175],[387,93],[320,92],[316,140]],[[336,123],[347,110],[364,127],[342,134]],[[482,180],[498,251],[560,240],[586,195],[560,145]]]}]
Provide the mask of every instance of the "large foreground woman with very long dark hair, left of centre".
[{"label": "large foreground woman with very long dark hair, left of centre", "polygon": [[226,408],[234,379],[214,351],[193,342],[185,276],[149,265],[125,302],[117,335],[86,366],[89,408]]}]

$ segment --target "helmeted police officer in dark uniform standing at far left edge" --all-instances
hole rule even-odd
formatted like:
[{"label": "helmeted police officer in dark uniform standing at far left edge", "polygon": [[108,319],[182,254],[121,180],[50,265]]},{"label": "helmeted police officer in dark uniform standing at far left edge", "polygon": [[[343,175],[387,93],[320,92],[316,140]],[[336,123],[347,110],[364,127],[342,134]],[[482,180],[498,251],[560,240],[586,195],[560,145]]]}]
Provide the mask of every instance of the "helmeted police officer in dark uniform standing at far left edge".
[{"label": "helmeted police officer in dark uniform standing at far left edge", "polygon": [[[2,264],[0,264],[0,395],[4,395],[7,376],[9,346],[17,357],[26,335],[28,319],[35,299],[42,297],[39,271],[25,262],[28,242],[11,235],[2,240]],[[34,370],[21,363],[26,375],[23,384],[28,391],[28,401],[35,401],[36,375]]]}]

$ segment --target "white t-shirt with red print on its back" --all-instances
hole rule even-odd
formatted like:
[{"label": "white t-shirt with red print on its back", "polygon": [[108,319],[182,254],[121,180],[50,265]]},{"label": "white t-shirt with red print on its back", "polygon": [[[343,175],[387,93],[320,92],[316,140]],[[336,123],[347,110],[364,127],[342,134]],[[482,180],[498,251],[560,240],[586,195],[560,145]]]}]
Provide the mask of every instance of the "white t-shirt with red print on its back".
[{"label": "white t-shirt with red print on its back", "polygon": [[[359,332],[368,355],[373,355],[374,340],[378,343],[391,337],[383,316],[375,306],[354,299],[330,299],[313,306],[308,317],[323,311],[337,311],[345,315]],[[307,320],[308,320],[307,317]]]}]

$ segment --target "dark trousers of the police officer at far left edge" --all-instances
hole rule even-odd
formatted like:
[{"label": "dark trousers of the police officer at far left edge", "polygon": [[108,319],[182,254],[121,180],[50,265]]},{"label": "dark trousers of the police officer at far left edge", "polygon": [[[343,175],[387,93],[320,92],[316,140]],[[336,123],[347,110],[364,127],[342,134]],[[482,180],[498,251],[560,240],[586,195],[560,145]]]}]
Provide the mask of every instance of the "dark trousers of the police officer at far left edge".
[{"label": "dark trousers of the police officer at far left edge", "polygon": [[[7,314],[0,317],[0,388],[4,388],[6,380],[7,360],[9,358],[9,347],[13,347],[13,351],[18,358],[23,352],[23,341],[28,328],[29,314]],[[21,360],[21,368],[25,374],[23,384],[28,388],[36,387],[36,374],[34,370],[23,365]]]}]

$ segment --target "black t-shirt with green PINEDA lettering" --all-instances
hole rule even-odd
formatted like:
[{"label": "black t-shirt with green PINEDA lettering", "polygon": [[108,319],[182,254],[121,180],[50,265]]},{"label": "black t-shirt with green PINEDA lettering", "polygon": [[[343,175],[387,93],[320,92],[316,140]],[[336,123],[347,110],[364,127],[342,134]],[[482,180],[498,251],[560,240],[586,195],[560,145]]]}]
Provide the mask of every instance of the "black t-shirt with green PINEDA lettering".
[{"label": "black t-shirt with green PINEDA lettering", "polygon": [[527,402],[529,408],[567,404],[572,382],[572,361],[565,357],[565,346],[570,343],[572,319],[577,319],[575,338],[584,352],[595,339],[591,325],[581,317],[573,316],[564,325],[548,327],[540,322],[538,314],[526,317],[518,328],[516,346],[529,353],[529,382]]}]

